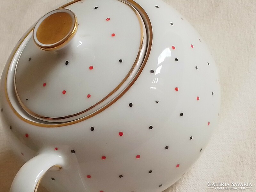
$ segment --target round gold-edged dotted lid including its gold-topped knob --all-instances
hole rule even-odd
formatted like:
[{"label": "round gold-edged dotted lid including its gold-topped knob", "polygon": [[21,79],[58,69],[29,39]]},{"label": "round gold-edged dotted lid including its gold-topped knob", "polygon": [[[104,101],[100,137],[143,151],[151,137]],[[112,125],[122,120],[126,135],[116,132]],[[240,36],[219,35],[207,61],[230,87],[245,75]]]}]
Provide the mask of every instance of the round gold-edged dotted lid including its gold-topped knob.
[{"label": "round gold-edged dotted lid including its gold-topped knob", "polygon": [[147,50],[136,8],[122,1],[77,1],[44,15],[17,62],[22,108],[48,122],[68,122],[104,108],[129,86]]}]

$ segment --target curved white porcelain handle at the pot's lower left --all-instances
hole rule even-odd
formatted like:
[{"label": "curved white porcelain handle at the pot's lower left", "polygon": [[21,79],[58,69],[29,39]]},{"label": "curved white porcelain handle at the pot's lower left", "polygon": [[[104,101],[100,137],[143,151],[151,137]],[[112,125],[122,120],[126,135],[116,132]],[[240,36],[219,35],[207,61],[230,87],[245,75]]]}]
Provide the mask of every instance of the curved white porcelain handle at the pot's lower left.
[{"label": "curved white porcelain handle at the pot's lower left", "polygon": [[33,157],[16,174],[10,192],[36,192],[44,174],[49,170],[59,171],[63,165],[63,157],[57,154]]}]

